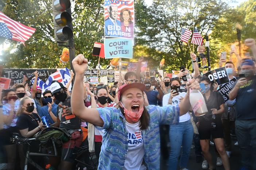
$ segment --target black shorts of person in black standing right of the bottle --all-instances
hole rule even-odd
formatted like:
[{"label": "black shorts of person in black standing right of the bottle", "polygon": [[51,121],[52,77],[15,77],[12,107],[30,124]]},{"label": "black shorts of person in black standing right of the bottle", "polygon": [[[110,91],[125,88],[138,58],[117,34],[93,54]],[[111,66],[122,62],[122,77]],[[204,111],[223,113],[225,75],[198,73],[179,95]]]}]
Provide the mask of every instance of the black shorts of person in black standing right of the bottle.
[{"label": "black shorts of person in black standing right of the bottle", "polygon": [[212,121],[201,120],[199,121],[199,135],[200,140],[210,139],[211,135],[213,139],[224,138],[223,126],[221,120],[216,121],[216,128],[213,129],[211,125]]}]

